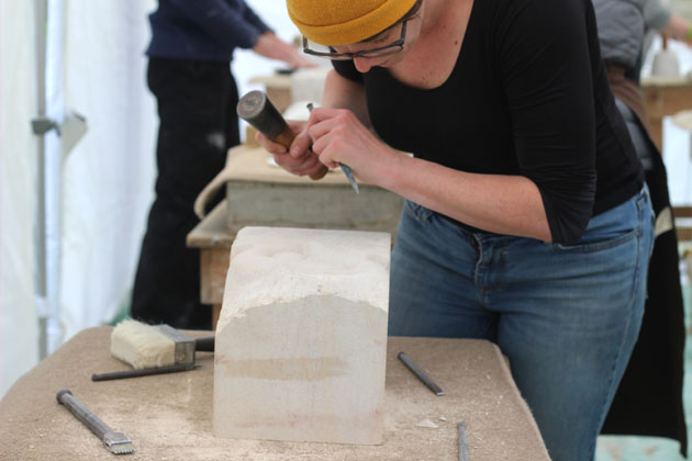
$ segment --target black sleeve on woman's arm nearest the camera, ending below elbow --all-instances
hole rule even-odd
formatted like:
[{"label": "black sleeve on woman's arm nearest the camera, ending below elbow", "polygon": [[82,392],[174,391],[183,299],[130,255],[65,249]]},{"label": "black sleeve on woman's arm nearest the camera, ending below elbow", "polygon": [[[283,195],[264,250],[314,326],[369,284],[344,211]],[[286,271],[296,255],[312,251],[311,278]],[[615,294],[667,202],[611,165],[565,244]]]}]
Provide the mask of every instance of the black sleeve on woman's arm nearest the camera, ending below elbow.
[{"label": "black sleeve on woman's arm nearest the camera, ending below elbow", "polygon": [[595,198],[587,1],[509,0],[495,34],[520,171],[538,187],[553,241],[562,244],[579,240]]}]

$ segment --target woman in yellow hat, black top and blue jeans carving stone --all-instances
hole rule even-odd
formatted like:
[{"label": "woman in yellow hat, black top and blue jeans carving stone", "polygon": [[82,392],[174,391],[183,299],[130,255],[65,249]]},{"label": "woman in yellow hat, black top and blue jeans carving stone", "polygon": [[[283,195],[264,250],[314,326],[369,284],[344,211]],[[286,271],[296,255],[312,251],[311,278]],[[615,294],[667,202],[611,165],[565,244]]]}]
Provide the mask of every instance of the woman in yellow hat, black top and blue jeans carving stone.
[{"label": "woman in yellow hat, black top and blue jeans carving stone", "polygon": [[654,213],[591,0],[287,4],[334,70],[288,151],[257,139],[295,175],[343,162],[404,196],[389,334],[496,342],[550,458],[592,460]]}]

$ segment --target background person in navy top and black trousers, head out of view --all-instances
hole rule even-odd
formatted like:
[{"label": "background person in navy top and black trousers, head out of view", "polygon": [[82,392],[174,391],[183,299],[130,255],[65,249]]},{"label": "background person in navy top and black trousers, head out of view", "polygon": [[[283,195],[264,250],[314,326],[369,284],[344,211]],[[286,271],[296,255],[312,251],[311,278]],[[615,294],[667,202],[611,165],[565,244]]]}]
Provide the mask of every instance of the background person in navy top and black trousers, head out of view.
[{"label": "background person in navy top and black trousers, head out of view", "polygon": [[159,0],[149,22],[147,83],[160,120],[158,176],[131,314],[144,322],[210,329],[211,307],[200,303],[199,250],[186,247],[186,236],[199,222],[194,199],[241,140],[233,52],[252,49],[291,68],[313,64],[243,0]]}]

